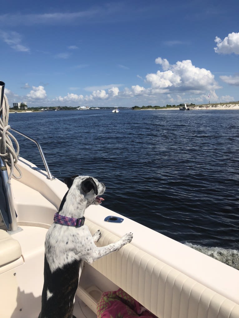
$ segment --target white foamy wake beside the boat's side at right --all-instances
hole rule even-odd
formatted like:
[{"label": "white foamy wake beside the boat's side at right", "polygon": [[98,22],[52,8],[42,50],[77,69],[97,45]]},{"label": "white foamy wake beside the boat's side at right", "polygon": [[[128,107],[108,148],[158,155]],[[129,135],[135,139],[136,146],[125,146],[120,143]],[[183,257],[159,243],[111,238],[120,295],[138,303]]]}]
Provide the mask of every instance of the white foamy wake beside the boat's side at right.
[{"label": "white foamy wake beside the boat's side at right", "polygon": [[222,247],[205,247],[187,242],[185,245],[239,270],[239,251],[237,250]]}]

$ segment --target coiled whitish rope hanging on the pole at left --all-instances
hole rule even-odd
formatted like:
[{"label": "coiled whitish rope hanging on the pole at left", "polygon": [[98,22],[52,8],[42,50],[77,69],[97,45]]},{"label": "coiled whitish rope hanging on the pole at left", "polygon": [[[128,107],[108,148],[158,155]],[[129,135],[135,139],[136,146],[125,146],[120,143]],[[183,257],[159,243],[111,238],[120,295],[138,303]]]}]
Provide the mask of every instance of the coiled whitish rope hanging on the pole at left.
[{"label": "coiled whitish rope hanging on the pole at left", "polygon": [[[7,96],[4,94],[3,103],[0,108],[0,156],[2,160],[10,167],[10,174],[8,178],[8,183],[11,182],[11,177],[14,176],[16,179],[22,177],[22,173],[17,166],[18,154],[19,154],[19,144],[17,139],[9,132],[11,128],[8,125],[9,118],[9,105]],[[16,151],[12,145],[12,141],[16,144]],[[14,174],[14,167],[17,169],[19,176]]]}]

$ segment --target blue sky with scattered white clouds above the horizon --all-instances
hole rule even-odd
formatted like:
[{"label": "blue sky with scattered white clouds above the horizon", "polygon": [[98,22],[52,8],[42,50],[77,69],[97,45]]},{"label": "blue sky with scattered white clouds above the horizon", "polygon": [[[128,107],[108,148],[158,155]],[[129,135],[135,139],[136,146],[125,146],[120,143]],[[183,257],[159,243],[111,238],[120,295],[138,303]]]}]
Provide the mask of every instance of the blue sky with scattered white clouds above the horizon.
[{"label": "blue sky with scattered white clouds above the horizon", "polygon": [[239,100],[238,0],[1,3],[10,107]]}]

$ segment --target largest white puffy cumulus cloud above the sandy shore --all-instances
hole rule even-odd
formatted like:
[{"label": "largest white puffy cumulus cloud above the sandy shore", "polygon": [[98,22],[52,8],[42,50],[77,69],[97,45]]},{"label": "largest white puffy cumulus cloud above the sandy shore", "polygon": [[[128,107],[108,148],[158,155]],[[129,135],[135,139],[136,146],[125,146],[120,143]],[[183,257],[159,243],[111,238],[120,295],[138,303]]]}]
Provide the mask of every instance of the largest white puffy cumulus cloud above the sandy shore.
[{"label": "largest white puffy cumulus cloud above the sandy shore", "polygon": [[166,91],[194,91],[199,93],[208,89],[219,88],[214,75],[205,68],[192,65],[191,60],[177,61],[170,65],[167,59],[157,58],[164,72],[146,75],[146,81],[152,88],[167,89]]}]

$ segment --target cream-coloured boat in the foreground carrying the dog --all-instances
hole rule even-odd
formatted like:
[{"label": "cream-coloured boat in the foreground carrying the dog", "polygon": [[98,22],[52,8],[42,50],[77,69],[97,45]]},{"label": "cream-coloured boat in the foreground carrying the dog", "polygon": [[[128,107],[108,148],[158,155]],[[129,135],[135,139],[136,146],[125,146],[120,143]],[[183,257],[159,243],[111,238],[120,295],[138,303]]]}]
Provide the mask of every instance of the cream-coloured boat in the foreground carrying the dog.
[{"label": "cream-coloured boat in the foreground carrying the dog", "polygon": [[[52,176],[39,142],[8,124],[4,82],[0,89],[1,137],[11,139],[13,133],[31,140],[45,166],[38,168],[24,153],[18,156],[18,147],[15,151],[9,146],[14,157],[9,165],[0,157],[0,317],[37,318],[45,236],[68,188]],[[76,318],[103,317],[99,304],[105,293],[116,290],[123,290],[142,310],[146,308],[158,318],[239,317],[239,271],[235,268],[101,205],[86,209],[85,224],[92,234],[100,229],[98,246],[128,232],[134,236],[119,251],[91,265],[84,263],[75,297]]]}]

